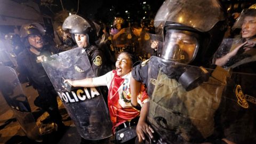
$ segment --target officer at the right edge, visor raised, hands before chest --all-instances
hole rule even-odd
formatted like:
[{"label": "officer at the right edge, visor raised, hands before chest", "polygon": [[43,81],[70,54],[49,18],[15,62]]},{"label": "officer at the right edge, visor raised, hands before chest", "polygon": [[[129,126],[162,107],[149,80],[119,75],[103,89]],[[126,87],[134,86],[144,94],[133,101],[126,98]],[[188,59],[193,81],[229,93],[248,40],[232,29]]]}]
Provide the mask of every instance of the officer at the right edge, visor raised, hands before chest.
[{"label": "officer at the right edge, visor raised, hands before chest", "polygon": [[[233,71],[227,83],[228,93],[237,98],[229,115],[236,123],[227,123],[227,140],[234,143],[255,143],[255,85],[256,85],[256,4],[244,9],[232,29],[242,28],[242,35],[224,39],[215,54],[216,65]],[[226,54],[226,55],[225,55]],[[243,101],[243,103],[241,103]],[[239,111],[234,115],[233,111]]]}]

